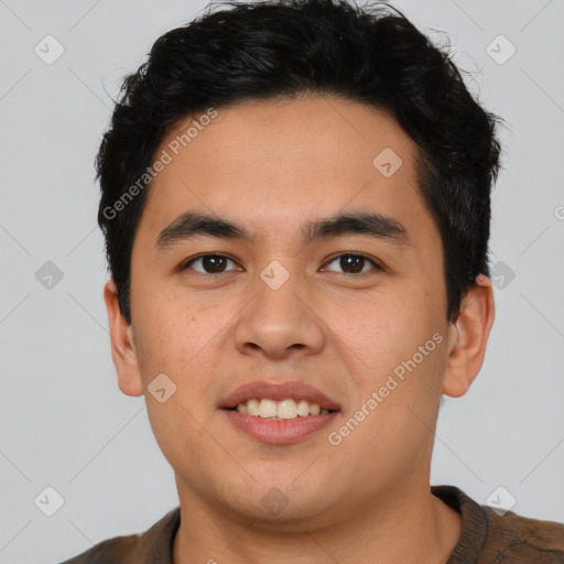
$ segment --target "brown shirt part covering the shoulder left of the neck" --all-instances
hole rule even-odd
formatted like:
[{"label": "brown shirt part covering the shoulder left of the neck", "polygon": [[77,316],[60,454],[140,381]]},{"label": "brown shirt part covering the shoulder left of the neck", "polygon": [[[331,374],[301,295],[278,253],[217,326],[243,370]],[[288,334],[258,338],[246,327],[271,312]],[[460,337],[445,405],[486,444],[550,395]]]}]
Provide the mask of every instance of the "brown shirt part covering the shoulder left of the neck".
[{"label": "brown shirt part covering the shoulder left of the neck", "polygon": [[176,507],[144,533],[107,539],[62,564],[171,564],[178,524]]}]

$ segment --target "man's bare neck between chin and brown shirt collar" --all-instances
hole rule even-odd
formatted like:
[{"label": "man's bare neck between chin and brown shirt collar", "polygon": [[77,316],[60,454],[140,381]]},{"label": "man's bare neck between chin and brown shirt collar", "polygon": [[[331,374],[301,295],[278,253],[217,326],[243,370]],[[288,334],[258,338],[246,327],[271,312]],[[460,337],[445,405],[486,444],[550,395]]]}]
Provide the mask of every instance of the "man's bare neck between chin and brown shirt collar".
[{"label": "man's bare neck between chin and brown shirt collar", "polygon": [[226,513],[178,488],[173,564],[445,563],[462,533],[460,514],[431,494],[429,481],[387,491],[330,522],[296,519],[272,525]]}]

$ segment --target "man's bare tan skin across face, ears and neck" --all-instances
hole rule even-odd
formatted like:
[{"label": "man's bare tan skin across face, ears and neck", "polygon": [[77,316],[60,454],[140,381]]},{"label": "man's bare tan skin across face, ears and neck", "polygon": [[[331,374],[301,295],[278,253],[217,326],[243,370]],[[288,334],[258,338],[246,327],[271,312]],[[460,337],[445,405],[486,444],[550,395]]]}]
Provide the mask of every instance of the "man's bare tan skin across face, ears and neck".
[{"label": "man's bare tan skin across face, ears and neck", "polygon": [[[372,165],[387,147],[403,161],[388,178]],[[131,325],[112,280],[105,301],[119,387],[145,395],[175,471],[174,564],[437,564],[454,549],[460,516],[430,491],[433,432],[441,394],[466,393],[482,365],[495,307],[490,280],[478,276],[447,323],[442,240],[417,191],[416,151],[391,117],[361,104],[245,102],[219,109],[154,178],[132,251]],[[367,209],[400,221],[412,245],[347,235],[304,247],[299,237],[308,220]],[[258,239],[207,236],[159,252],[160,230],[187,210],[228,217]],[[350,273],[335,261],[347,252],[386,269],[365,262]],[[203,261],[181,269],[204,253],[231,260],[215,279],[202,276]],[[275,291],[260,278],[273,260],[290,274]],[[443,341],[332,445],[328,433],[435,333]],[[176,384],[164,403],[148,391],[162,372]],[[343,410],[296,444],[261,443],[218,410],[258,379],[307,382]],[[278,516],[261,505],[273,487],[288,499]]]}]

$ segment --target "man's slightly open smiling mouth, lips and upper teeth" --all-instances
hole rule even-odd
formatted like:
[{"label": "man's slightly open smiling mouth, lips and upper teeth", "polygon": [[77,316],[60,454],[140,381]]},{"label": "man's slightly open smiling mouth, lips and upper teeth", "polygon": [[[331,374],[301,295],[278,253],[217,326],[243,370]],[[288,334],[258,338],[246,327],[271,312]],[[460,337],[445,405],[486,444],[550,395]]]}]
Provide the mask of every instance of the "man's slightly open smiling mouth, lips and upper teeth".
[{"label": "man's slightly open smiling mouth, lips and upper teeth", "polygon": [[237,388],[219,409],[238,430],[270,444],[296,443],[319,431],[340,405],[303,382],[251,382]]}]

